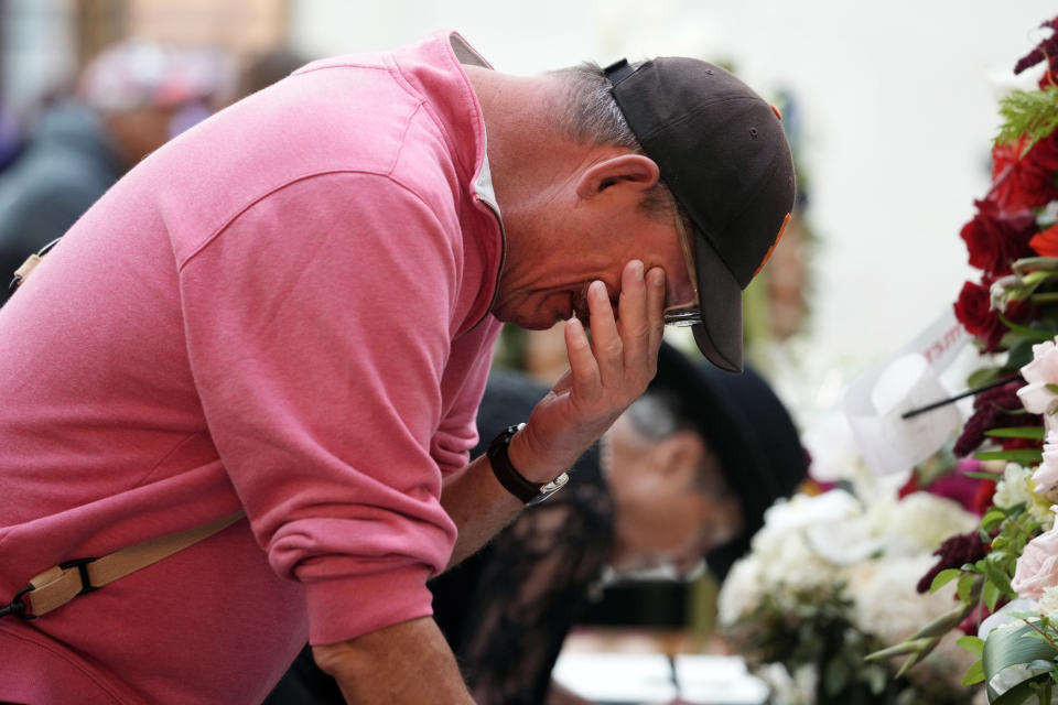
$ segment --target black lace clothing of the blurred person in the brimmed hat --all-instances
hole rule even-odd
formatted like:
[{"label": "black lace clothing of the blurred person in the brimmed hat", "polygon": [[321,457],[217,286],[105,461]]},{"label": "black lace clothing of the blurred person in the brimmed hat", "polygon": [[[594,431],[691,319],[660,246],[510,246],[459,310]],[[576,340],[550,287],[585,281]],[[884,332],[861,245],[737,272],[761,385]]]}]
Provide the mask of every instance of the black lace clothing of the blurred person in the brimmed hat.
[{"label": "black lace clothing of the blurred person in the brimmed hat", "polygon": [[[547,389],[494,371],[478,411],[482,452],[525,421]],[[566,633],[589,603],[613,546],[613,503],[593,447],[566,487],[529,507],[496,539],[429,583],[434,619],[479,705],[539,705]],[[344,703],[306,648],[266,705]]]}]

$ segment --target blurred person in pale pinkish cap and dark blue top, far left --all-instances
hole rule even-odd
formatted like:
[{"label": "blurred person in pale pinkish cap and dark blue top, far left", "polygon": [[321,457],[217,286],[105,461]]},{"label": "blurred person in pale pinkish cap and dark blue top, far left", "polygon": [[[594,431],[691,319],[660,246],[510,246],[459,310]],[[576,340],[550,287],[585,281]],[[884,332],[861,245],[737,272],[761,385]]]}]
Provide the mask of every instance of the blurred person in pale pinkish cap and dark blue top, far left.
[{"label": "blurred person in pale pinkish cap and dark blue top, far left", "polygon": [[0,172],[0,303],[31,253],[141,159],[208,113],[212,55],[129,40],[99,53]]}]

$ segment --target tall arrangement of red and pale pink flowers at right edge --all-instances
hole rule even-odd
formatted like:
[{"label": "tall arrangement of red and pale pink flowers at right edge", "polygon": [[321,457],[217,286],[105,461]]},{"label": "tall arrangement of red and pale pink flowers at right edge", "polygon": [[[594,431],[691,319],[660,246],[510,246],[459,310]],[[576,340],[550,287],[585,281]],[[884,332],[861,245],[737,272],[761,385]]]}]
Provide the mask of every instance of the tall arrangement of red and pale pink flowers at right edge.
[{"label": "tall arrangement of red and pale pink flowers at right edge", "polygon": [[1038,88],[1002,100],[992,186],[961,232],[981,278],[954,310],[983,365],[954,453],[982,463],[972,477],[989,501],[919,582],[931,594],[954,585],[954,607],[874,654],[906,657],[908,672],[961,631],[978,657],[963,683],[992,705],[1058,703],[1058,18],[1043,28],[1014,69],[1043,64]]}]

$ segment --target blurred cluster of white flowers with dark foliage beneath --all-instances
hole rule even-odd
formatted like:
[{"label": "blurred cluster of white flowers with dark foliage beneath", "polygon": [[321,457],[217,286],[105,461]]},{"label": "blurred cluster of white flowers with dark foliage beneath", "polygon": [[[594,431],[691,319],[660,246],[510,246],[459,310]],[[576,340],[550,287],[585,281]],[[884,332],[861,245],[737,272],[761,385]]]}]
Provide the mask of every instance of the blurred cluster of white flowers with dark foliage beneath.
[{"label": "blurred cluster of white flowers with dark foliage beneath", "polygon": [[937,545],[978,517],[927,492],[875,496],[834,488],[776,503],[724,581],[720,625],[771,687],[770,703],[968,702],[960,679],[974,658],[954,634],[908,677],[897,677],[898,662],[866,657],[951,611],[954,585],[919,594],[915,583]]}]

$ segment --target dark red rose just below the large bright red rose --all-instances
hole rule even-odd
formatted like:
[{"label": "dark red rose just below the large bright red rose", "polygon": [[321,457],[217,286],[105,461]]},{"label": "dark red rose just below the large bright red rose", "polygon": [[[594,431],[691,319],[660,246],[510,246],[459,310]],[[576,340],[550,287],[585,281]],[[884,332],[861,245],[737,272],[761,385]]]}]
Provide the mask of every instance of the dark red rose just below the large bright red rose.
[{"label": "dark red rose just below the large bright red rose", "polygon": [[992,200],[975,200],[978,215],[962,227],[970,264],[990,275],[1011,273],[1011,262],[1032,257],[1028,241],[1036,235],[1036,216],[1029,210],[1003,213]]}]

